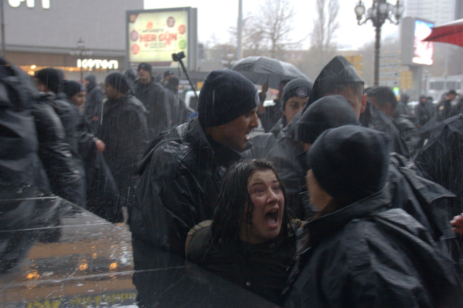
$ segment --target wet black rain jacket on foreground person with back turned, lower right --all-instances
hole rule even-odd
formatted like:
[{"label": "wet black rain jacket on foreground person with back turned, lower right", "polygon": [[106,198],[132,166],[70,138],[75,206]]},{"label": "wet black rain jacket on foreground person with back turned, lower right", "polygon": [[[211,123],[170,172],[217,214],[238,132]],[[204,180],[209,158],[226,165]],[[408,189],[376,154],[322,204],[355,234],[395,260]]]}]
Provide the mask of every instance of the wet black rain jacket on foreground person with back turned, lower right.
[{"label": "wet black rain jacket on foreground person with back turned, lower right", "polygon": [[304,226],[286,307],[462,307],[454,263],[388,187]]}]

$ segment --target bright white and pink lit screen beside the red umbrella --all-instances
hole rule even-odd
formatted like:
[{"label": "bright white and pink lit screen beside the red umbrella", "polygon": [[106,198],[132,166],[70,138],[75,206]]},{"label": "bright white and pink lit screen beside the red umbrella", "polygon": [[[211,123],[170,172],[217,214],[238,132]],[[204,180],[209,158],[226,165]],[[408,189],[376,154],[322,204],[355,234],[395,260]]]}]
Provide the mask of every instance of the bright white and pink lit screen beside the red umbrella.
[{"label": "bright white and pink lit screen beside the red umbrella", "polygon": [[433,23],[416,19],[413,38],[413,58],[416,64],[432,65],[432,53],[434,51],[432,42],[422,40],[431,34]]}]

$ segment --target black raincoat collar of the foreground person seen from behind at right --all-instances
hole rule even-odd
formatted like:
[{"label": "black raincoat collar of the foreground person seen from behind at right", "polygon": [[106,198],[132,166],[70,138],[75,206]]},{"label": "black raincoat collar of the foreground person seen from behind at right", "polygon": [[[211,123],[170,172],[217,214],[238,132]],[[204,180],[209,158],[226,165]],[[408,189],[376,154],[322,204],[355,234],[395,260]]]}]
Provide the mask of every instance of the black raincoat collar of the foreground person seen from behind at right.
[{"label": "black raincoat collar of the foreground person seen from behind at right", "polygon": [[388,210],[390,204],[389,185],[386,184],[369,197],[307,222],[304,229],[310,236],[311,244],[314,245],[324,237],[335,234],[354,219],[362,219]]}]

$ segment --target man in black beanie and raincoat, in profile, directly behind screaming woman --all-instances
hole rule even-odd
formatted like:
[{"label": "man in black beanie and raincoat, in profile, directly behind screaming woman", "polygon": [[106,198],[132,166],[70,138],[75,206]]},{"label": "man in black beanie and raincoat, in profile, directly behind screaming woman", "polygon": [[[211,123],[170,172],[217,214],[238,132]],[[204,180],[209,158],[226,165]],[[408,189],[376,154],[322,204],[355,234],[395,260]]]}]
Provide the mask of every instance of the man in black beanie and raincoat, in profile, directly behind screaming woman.
[{"label": "man in black beanie and raincoat, in profile, directly behind screaming woman", "polygon": [[258,125],[258,104],[249,79],[228,69],[212,71],[201,88],[198,117],[152,143],[131,215],[136,269],[155,248],[185,256],[189,229],[212,217],[225,169],[241,158],[238,151]]}]

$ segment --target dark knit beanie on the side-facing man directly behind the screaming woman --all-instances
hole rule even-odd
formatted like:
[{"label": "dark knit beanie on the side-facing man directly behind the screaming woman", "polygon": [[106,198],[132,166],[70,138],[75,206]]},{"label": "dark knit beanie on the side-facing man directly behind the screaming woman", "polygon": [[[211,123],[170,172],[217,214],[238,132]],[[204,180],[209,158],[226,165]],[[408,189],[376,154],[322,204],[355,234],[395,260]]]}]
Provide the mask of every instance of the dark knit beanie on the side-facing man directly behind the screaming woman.
[{"label": "dark knit beanie on the side-facing man directly behind the screaming woman", "polygon": [[244,75],[230,69],[210,72],[198,100],[198,118],[203,128],[233,121],[259,105],[257,89]]}]

